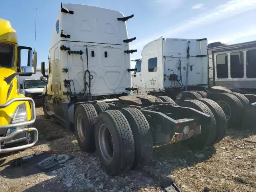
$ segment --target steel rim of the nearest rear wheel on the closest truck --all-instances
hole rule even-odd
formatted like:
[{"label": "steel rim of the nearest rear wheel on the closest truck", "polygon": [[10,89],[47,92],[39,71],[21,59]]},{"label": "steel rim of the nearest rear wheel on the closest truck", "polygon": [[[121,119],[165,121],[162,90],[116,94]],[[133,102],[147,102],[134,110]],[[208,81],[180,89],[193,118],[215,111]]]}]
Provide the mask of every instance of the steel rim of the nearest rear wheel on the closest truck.
[{"label": "steel rim of the nearest rear wheel on the closest truck", "polygon": [[113,140],[110,130],[105,124],[100,126],[98,140],[103,158],[108,162],[112,161],[114,156]]}]

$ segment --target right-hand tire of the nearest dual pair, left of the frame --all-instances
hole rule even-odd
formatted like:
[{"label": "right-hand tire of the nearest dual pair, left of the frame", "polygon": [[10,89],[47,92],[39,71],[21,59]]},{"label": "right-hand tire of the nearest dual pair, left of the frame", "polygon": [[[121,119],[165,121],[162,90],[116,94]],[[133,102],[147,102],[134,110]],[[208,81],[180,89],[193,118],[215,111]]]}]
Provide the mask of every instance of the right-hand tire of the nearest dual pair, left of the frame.
[{"label": "right-hand tire of the nearest dual pair, left of the frame", "polygon": [[148,120],[136,108],[124,108],[120,111],[127,118],[134,137],[135,156],[132,169],[143,167],[152,159],[153,153],[152,133]]}]

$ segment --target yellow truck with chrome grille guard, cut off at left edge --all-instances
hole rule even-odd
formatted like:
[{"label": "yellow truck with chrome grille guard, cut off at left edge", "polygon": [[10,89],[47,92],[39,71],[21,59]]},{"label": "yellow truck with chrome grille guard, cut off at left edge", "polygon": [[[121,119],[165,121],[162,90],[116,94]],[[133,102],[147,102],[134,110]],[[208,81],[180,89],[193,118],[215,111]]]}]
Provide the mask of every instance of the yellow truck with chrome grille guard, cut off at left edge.
[{"label": "yellow truck with chrome grille guard, cut off at left edge", "polygon": [[[21,66],[21,50],[28,51],[27,66]],[[36,51],[18,46],[16,31],[0,18],[0,153],[29,148],[38,140],[38,131],[31,127],[36,120],[34,101],[18,93],[17,78],[34,74],[36,60]]]}]

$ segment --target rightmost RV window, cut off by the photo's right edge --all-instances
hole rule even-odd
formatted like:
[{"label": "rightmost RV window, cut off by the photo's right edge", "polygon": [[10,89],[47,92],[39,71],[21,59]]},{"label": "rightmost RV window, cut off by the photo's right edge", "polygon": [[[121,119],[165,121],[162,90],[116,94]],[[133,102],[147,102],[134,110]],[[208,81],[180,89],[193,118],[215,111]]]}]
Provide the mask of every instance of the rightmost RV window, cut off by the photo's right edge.
[{"label": "rightmost RV window, cut off by the photo's right edge", "polygon": [[256,49],[246,52],[246,77],[256,78]]}]

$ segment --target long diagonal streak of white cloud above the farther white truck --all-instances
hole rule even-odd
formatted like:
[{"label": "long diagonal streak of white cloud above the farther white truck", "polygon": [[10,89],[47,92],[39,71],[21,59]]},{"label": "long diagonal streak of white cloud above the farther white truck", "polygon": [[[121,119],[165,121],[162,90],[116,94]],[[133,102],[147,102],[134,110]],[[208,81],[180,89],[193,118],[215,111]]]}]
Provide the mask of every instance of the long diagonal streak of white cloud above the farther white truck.
[{"label": "long diagonal streak of white cloud above the farther white truck", "polygon": [[160,36],[172,38],[174,35],[180,34],[181,32],[212,24],[224,18],[226,19],[252,9],[256,9],[256,0],[231,0],[203,14],[180,22],[182,24],[170,26],[169,28],[159,31],[157,34],[144,38],[138,43],[131,45],[131,47],[137,49],[138,53],[140,53],[148,42],[160,38]]}]

